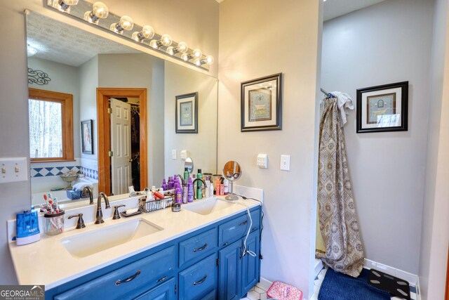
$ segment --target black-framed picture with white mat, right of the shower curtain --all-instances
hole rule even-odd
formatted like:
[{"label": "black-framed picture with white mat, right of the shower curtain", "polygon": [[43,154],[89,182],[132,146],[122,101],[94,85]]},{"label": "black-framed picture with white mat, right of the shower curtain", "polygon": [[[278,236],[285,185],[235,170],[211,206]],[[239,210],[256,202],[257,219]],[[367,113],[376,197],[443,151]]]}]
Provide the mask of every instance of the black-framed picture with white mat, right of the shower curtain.
[{"label": "black-framed picture with white mat, right of the shower curtain", "polygon": [[407,131],[408,81],[357,90],[357,133]]}]

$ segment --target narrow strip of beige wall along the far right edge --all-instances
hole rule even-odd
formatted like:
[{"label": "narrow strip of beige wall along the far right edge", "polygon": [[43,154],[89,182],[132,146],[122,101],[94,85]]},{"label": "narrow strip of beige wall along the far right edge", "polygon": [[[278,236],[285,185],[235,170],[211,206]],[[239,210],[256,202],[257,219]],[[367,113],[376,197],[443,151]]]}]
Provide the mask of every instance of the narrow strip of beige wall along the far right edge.
[{"label": "narrow strip of beige wall along the far right edge", "polygon": [[448,1],[436,0],[431,63],[431,105],[422,214],[422,299],[443,299],[449,244],[449,31]]}]

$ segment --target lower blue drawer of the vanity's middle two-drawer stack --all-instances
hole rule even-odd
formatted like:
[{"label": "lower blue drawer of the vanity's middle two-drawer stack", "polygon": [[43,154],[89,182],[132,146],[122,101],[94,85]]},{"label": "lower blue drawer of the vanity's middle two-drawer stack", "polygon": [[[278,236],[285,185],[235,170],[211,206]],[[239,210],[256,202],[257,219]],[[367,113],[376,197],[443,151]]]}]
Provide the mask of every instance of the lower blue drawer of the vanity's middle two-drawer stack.
[{"label": "lower blue drawer of the vanity's middle two-drawer stack", "polygon": [[180,272],[180,299],[198,299],[217,287],[217,254]]}]

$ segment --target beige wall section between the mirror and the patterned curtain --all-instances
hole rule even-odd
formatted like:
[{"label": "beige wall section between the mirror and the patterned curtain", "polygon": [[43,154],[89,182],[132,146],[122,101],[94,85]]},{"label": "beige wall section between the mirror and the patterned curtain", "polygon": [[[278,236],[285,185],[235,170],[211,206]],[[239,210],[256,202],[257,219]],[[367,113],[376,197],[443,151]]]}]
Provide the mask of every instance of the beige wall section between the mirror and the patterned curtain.
[{"label": "beige wall section between the mirror and the patterned curtain", "polygon": [[[318,40],[319,1],[220,4],[218,169],[236,160],[243,169],[239,185],[264,189],[262,277],[295,285],[305,296],[315,240]],[[279,72],[283,129],[242,133],[241,81]],[[257,153],[268,154],[268,169],[257,168]],[[291,171],[279,170],[281,154],[291,155]]]}]

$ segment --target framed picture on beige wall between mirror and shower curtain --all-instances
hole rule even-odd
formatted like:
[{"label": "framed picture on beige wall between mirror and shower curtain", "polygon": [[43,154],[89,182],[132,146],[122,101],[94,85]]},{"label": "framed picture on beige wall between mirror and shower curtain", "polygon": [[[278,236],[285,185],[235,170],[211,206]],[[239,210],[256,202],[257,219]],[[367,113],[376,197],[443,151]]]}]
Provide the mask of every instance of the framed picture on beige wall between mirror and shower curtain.
[{"label": "framed picture on beige wall between mirror and shower curtain", "polygon": [[241,83],[241,131],[281,130],[282,73]]}]

